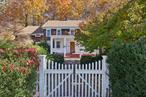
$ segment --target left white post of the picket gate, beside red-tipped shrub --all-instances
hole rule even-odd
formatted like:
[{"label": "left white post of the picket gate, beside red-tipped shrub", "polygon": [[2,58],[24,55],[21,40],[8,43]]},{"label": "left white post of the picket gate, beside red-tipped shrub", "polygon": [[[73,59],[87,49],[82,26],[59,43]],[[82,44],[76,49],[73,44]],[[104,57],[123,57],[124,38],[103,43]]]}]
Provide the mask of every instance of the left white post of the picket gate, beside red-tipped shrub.
[{"label": "left white post of the picket gate, beside red-tipped shrub", "polygon": [[44,97],[44,82],[45,82],[45,69],[46,69],[46,55],[39,55],[39,62],[40,62],[40,65],[39,65],[39,94],[40,96],[39,97]]}]

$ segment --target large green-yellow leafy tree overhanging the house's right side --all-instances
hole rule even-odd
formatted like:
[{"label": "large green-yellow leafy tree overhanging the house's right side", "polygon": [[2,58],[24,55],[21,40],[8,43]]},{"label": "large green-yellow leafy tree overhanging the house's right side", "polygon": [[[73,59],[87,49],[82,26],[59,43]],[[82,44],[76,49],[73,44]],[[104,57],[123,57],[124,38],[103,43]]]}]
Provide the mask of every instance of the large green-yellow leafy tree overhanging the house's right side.
[{"label": "large green-yellow leafy tree overhanging the house's right side", "polygon": [[82,24],[83,33],[77,33],[80,37],[76,39],[89,51],[98,47],[109,48],[115,40],[136,41],[146,35],[145,4],[143,0],[131,0],[120,4],[119,10],[114,12],[114,7],[109,8],[109,11]]}]

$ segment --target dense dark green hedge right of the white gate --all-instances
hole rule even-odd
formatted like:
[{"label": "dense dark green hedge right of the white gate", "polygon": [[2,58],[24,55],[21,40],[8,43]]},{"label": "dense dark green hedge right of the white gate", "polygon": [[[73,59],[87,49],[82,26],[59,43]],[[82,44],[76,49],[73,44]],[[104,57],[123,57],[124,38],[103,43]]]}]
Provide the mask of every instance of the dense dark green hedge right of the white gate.
[{"label": "dense dark green hedge right of the white gate", "polygon": [[113,97],[146,97],[146,42],[118,42],[108,54]]}]

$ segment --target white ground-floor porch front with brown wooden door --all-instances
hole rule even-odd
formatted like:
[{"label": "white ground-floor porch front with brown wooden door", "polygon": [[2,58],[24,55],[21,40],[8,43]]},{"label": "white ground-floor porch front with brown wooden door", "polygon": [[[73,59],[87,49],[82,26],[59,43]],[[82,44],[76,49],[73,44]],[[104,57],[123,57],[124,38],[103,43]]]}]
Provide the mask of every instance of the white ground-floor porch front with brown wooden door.
[{"label": "white ground-floor porch front with brown wooden door", "polygon": [[68,57],[69,54],[79,53],[74,36],[51,36],[50,38],[50,52],[51,54],[63,54]]}]

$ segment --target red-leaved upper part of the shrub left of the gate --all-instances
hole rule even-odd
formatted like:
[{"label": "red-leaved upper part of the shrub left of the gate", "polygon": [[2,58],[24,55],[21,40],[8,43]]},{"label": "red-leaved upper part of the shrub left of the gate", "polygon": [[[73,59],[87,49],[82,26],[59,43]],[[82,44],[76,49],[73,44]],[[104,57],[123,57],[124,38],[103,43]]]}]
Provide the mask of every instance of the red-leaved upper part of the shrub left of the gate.
[{"label": "red-leaved upper part of the shrub left of the gate", "polygon": [[[11,53],[10,53],[11,52]],[[12,54],[12,55],[10,55]],[[7,71],[26,74],[27,70],[31,67],[38,67],[37,52],[34,48],[16,48],[16,49],[0,49],[1,59],[8,59],[6,61],[0,62],[2,65],[2,71],[5,73]],[[12,63],[8,64],[9,62]],[[7,63],[8,62],[8,63]],[[15,64],[16,63],[16,64]],[[19,63],[19,64],[17,64]]]}]

